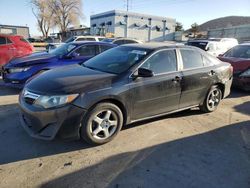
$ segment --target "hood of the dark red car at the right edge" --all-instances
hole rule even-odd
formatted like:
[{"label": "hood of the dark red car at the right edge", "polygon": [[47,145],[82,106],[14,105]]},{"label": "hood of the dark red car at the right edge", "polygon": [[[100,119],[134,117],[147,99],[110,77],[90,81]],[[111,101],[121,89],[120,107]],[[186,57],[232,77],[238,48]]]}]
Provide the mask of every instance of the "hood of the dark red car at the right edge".
[{"label": "hood of the dark red car at the right edge", "polygon": [[230,63],[233,66],[234,73],[239,73],[250,68],[250,59],[219,57],[221,61]]}]

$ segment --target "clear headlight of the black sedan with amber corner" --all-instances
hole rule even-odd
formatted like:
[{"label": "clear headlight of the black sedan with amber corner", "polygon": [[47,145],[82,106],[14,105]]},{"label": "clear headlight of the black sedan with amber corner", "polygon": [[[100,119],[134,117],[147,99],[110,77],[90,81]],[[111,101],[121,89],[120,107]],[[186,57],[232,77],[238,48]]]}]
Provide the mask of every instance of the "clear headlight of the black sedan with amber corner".
[{"label": "clear headlight of the black sedan with amber corner", "polygon": [[62,106],[72,102],[78,97],[78,94],[73,95],[58,95],[58,96],[39,96],[35,102],[36,105],[44,108],[53,108]]}]

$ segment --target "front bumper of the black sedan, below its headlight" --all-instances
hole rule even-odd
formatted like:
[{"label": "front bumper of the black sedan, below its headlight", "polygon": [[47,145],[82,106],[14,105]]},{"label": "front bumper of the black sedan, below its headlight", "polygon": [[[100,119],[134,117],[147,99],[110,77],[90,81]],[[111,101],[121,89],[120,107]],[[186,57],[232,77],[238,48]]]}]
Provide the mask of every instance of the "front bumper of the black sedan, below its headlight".
[{"label": "front bumper of the black sedan, below its headlight", "polygon": [[19,99],[20,120],[26,132],[38,139],[78,139],[82,117],[86,110],[68,104],[61,108],[40,109]]}]

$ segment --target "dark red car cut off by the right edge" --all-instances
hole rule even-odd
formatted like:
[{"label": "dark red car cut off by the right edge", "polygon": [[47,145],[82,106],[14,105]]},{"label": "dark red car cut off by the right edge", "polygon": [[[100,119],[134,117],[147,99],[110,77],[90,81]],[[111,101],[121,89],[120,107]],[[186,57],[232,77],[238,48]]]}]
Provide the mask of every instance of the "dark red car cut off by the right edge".
[{"label": "dark red car cut off by the right edge", "polygon": [[250,43],[237,45],[218,58],[233,66],[233,85],[250,91]]}]

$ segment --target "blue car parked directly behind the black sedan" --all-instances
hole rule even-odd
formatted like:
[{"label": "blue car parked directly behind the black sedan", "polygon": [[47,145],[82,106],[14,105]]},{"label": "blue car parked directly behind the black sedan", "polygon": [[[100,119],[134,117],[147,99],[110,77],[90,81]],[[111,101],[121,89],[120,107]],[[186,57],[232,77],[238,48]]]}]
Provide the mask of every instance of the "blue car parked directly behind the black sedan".
[{"label": "blue car parked directly behind the black sedan", "polygon": [[51,50],[12,59],[3,67],[5,86],[23,88],[25,82],[44,71],[85,62],[95,55],[115,47],[104,42],[73,42]]}]

